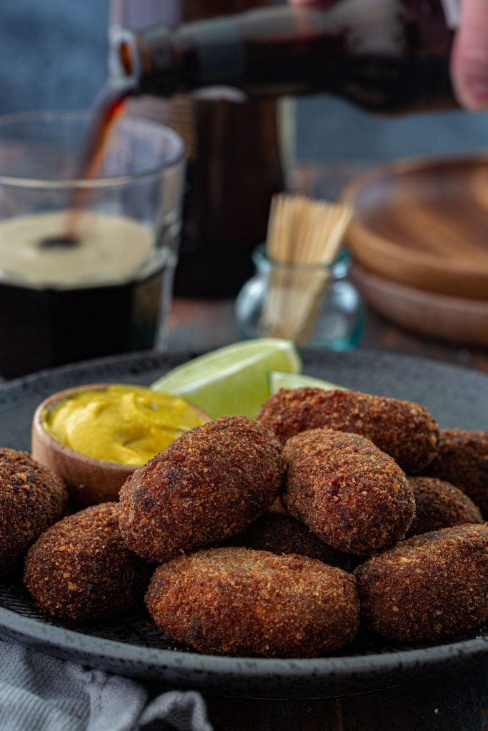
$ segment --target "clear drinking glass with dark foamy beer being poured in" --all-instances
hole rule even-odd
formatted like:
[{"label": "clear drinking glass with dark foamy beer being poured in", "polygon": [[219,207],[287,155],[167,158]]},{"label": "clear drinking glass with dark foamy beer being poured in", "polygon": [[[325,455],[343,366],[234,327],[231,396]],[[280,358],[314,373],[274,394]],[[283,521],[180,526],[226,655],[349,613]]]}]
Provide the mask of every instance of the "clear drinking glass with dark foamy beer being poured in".
[{"label": "clear drinking glass with dark foamy beer being poured in", "polygon": [[80,178],[89,113],[0,118],[0,375],[149,349],[168,312],[184,143],[122,116]]}]

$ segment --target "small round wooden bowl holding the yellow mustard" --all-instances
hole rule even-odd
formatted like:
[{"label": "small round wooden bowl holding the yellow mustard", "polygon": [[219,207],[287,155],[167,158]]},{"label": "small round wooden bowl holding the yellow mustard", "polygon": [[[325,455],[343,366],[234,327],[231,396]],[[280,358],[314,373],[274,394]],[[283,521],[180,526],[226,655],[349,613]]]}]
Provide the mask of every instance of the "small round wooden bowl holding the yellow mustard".
[{"label": "small round wooden bowl holding the yellow mustard", "polygon": [[[66,447],[45,431],[42,414],[46,409],[53,409],[60,401],[64,401],[79,391],[105,390],[113,385],[95,383],[53,393],[37,406],[32,419],[32,456],[59,474],[59,477],[66,482],[72,499],[81,506],[119,500],[121,486],[139,466],[89,457]],[[193,406],[193,408],[204,420],[211,420],[209,414],[203,412],[198,406]]]}]

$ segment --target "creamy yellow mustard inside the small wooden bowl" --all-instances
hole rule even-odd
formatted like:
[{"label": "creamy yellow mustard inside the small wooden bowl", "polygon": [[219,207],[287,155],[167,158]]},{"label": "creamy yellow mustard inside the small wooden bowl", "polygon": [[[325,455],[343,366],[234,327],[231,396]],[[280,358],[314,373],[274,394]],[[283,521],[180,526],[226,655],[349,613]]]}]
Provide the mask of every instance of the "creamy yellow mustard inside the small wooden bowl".
[{"label": "creamy yellow mustard inside the small wooden bowl", "polygon": [[141,465],[205,422],[182,398],[142,386],[80,390],[48,410],[45,430],[89,457]]}]

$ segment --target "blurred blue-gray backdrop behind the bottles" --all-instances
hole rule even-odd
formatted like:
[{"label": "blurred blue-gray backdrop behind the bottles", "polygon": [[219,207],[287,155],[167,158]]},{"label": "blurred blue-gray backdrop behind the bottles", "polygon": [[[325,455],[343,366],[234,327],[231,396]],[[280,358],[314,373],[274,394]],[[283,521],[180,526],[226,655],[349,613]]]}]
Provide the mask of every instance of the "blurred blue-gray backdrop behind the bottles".
[{"label": "blurred blue-gray backdrop behind the bottles", "polygon": [[[89,107],[107,74],[107,24],[103,0],[0,0],[0,113]],[[488,114],[391,120],[304,99],[298,135],[304,160],[460,154],[488,146]]]}]

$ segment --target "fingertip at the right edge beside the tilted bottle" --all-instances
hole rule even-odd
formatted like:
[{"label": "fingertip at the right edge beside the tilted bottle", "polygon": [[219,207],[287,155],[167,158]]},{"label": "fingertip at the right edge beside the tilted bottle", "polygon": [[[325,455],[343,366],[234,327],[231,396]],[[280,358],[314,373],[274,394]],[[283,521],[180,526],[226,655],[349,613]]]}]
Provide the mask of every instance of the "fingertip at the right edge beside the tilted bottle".
[{"label": "fingertip at the right edge beside the tilted bottle", "polygon": [[487,0],[462,0],[454,39],[451,75],[459,102],[472,110],[488,109]]}]

